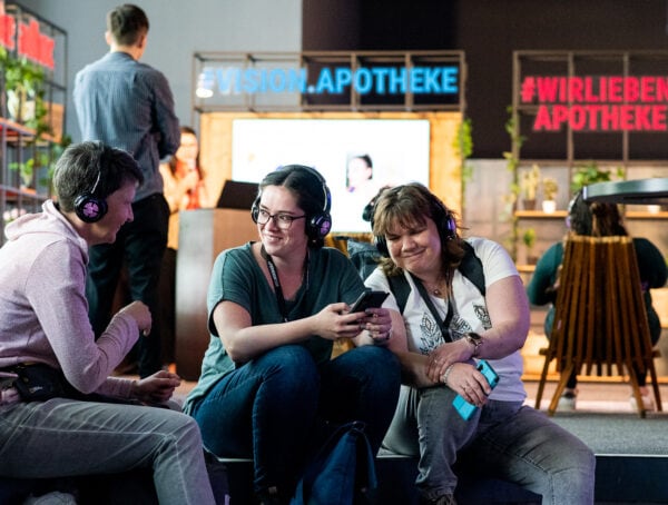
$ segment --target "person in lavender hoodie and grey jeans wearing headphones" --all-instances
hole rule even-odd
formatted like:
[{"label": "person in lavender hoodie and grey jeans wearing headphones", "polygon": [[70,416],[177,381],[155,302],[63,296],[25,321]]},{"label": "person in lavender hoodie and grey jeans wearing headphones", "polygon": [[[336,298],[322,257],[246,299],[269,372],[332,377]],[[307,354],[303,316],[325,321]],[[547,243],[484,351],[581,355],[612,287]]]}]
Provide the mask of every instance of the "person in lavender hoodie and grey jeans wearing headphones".
[{"label": "person in lavender hoodie and grey jeans wearing headphones", "polygon": [[[100,142],[71,145],[56,167],[57,201],[46,201],[41,214],[20,217],[6,229],[0,475],[49,478],[146,467],[153,468],[160,504],[212,504],[197,424],[179,412],[124,403],[166,402],[178,376],[108,377],[140,334],[150,333],[146,305],[122,308],[97,340],[88,319],[88,248],[112,242],[120,226],[132,220],[141,180],[127,152]],[[23,368],[52,376],[42,385],[63,390],[32,400],[12,382]]]}]

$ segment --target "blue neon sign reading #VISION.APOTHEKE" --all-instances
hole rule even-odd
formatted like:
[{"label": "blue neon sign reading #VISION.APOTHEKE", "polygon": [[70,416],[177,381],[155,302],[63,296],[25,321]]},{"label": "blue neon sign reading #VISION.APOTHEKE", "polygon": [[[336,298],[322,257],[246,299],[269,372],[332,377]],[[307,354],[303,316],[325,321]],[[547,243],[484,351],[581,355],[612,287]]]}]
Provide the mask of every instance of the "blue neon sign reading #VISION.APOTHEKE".
[{"label": "blue neon sign reading #VISION.APOTHEKE", "polygon": [[205,67],[198,78],[197,96],[209,98],[216,90],[220,95],[342,95],[347,90],[360,95],[456,95],[459,68],[361,67],[353,70],[348,67],[324,67],[311,81],[306,68]]}]

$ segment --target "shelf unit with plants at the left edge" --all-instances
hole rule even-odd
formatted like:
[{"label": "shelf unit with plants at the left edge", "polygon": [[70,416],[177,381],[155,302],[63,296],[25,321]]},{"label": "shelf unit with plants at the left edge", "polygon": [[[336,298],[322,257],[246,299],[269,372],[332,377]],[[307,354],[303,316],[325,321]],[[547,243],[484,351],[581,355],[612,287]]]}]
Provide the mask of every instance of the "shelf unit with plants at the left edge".
[{"label": "shelf unit with plants at the left edge", "polygon": [[[65,102],[67,98],[67,32],[18,3],[4,6],[3,22],[11,23],[12,40],[2,48],[11,58],[24,58],[45,71],[45,122],[49,133],[38,133],[27,121],[11,118],[8,108],[6,75],[0,75],[0,246],[4,244],[4,227],[18,216],[36,212],[50,197],[50,167],[58,156],[63,138]],[[32,39],[19,40],[29,31]],[[23,36],[26,39],[26,36]],[[24,49],[24,46],[30,46]],[[36,56],[39,55],[39,56]],[[40,60],[40,58],[42,58]],[[51,65],[52,63],[52,65]],[[30,161],[33,160],[33,161]],[[33,162],[32,175],[23,180],[20,167]]]}]

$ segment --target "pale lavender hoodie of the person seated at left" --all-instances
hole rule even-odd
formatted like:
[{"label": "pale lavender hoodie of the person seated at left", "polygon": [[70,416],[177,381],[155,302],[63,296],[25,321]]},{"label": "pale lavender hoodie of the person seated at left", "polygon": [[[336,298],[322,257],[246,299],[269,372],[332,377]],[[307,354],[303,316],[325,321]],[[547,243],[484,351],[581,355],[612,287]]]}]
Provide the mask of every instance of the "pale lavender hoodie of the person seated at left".
[{"label": "pale lavender hoodie of the person seated at left", "polygon": [[96,341],[88,319],[88,245],[52,201],[6,228],[0,248],[0,368],[38,362],[61,368],[82,393],[129,397],[132,380],[109,377],[139,336],[116,315]]}]

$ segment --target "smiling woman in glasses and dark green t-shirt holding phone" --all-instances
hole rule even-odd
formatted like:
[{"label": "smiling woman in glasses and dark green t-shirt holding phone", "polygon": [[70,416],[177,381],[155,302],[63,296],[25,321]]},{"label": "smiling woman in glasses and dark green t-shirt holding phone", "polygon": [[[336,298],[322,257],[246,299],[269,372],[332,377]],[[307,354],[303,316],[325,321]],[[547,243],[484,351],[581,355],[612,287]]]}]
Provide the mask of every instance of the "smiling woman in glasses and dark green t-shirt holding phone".
[{"label": "smiling woman in glasses and dark green t-shirt holding phone", "polygon": [[[331,228],[323,177],[288,165],[258,189],[252,217],[259,241],[216,259],[212,338],[184,408],[207,450],[253,457],[262,503],[287,503],[321,422],[364,422],[377,452],[394,414],[400,368],[385,348],[389,311],[348,314],[364,284],[343,253],[323,247]],[[331,359],[337,339],[357,347]]]}]

